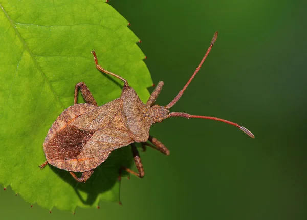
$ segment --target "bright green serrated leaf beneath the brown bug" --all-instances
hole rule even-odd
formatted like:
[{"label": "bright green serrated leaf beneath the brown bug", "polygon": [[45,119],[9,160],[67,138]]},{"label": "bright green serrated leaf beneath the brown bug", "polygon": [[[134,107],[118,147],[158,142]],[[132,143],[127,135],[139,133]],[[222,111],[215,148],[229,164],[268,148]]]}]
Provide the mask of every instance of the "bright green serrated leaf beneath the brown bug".
[{"label": "bright green serrated leaf beneath the brown bug", "polygon": [[129,147],[112,152],[85,184],[67,171],[38,166],[46,160],[49,128],[73,105],[76,83],[85,82],[98,105],[120,96],[123,83],[95,68],[91,50],[142,101],[149,97],[151,77],[128,21],[96,0],[9,0],[0,7],[0,183],[50,210],[119,201],[118,170],[131,166]]}]

